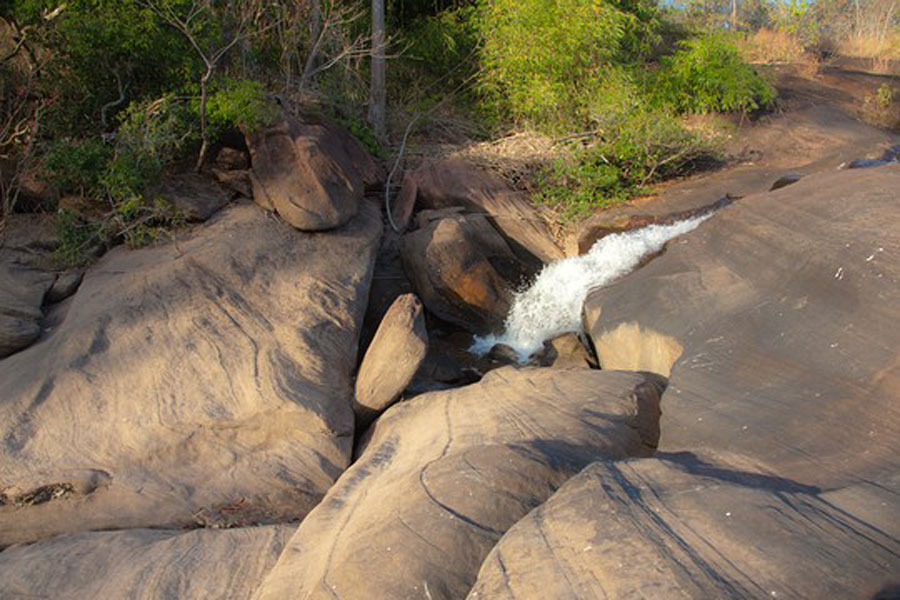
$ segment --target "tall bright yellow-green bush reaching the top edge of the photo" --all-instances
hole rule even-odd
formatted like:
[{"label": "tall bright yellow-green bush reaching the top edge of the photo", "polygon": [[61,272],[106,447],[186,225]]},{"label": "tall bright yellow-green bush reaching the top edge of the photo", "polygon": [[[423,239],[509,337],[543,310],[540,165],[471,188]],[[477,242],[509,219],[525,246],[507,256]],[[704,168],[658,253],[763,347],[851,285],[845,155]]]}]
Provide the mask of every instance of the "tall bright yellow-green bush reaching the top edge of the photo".
[{"label": "tall bright yellow-green bush reaching the top edge of the photo", "polygon": [[580,127],[609,67],[650,51],[654,14],[646,2],[485,0],[480,91],[495,114],[551,132]]}]

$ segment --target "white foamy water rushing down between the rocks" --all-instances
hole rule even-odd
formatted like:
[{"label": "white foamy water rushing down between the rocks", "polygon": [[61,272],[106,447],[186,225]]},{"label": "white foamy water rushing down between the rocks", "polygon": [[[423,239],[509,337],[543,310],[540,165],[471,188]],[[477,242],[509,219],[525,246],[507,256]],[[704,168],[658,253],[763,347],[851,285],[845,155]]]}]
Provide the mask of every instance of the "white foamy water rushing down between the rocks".
[{"label": "white foamy water rushing down between the rocks", "polygon": [[627,275],[644,257],[710,216],[608,235],[586,254],[546,265],[528,289],[516,294],[504,323],[505,332],[476,337],[469,351],[484,354],[494,344],[502,343],[515,348],[524,362],[546,340],[581,331],[581,309],[590,290]]}]

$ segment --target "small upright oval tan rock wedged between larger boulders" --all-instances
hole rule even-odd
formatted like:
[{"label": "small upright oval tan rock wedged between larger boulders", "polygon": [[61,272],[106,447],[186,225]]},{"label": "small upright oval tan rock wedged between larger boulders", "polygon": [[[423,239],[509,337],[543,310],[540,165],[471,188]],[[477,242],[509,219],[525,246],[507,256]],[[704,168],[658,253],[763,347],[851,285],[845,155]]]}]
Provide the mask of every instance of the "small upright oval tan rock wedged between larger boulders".
[{"label": "small upright oval tan rock wedged between larger boulders", "polygon": [[357,428],[367,426],[397,401],[427,351],[422,303],[415,294],[400,296],[381,321],[356,377]]}]

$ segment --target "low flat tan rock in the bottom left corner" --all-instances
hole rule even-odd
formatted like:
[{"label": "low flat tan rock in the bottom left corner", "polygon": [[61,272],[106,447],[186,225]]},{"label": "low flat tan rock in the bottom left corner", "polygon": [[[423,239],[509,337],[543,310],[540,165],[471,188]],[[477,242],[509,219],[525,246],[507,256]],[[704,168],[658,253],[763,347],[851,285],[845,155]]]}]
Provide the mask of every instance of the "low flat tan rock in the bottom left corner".
[{"label": "low flat tan rock in the bottom left corner", "polygon": [[295,529],[132,529],[13,546],[0,554],[0,595],[249,600]]}]

